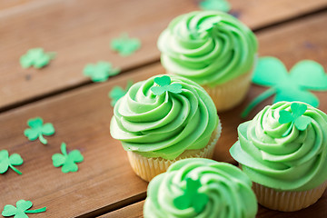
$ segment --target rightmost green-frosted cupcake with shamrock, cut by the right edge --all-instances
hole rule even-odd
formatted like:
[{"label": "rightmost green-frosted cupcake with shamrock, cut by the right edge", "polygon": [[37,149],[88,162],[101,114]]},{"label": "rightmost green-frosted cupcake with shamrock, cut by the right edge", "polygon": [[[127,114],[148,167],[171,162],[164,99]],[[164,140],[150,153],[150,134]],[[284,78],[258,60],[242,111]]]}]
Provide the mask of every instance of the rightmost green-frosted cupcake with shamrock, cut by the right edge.
[{"label": "rightmost green-frosted cupcake with shamrock, cut by the right edge", "polygon": [[327,186],[327,115],[309,104],[266,106],[238,127],[230,153],[253,181],[258,202],[292,212],[315,203]]}]

